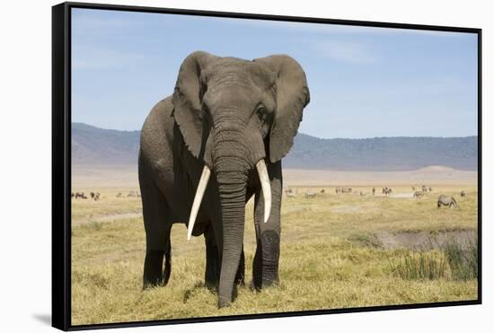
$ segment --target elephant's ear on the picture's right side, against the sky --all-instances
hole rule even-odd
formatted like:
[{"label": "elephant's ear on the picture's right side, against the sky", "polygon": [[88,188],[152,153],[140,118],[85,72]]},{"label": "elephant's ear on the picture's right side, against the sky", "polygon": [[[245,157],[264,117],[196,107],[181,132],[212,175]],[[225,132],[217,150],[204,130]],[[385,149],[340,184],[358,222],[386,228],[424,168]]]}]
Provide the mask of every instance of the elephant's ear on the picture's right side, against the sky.
[{"label": "elephant's ear on the picture's right side, against the sky", "polygon": [[292,57],[275,55],[254,61],[268,66],[278,77],[277,110],[269,136],[269,161],[277,162],[294,144],[302,111],[310,101],[309,87],[302,66]]}]

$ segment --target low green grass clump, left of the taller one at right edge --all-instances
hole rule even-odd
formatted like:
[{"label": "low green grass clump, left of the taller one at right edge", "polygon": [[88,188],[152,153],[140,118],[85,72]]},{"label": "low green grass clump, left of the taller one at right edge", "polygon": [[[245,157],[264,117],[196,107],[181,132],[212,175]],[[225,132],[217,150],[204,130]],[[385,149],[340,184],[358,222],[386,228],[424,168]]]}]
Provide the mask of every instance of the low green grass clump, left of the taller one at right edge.
[{"label": "low green grass clump, left of the taller one at right edge", "polygon": [[447,260],[445,255],[428,252],[406,254],[398,263],[389,260],[394,276],[404,280],[435,280],[446,277]]}]

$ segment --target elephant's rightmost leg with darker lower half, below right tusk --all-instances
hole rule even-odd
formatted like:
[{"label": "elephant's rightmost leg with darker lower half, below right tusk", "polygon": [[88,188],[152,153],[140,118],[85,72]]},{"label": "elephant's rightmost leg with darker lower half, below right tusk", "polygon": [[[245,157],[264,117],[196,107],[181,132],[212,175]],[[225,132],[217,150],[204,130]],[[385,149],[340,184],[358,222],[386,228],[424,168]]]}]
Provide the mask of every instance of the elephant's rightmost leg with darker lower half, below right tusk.
[{"label": "elephant's rightmost leg with darker lower half, below right tusk", "polygon": [[269,164],[269,180],[271,185],[271,213],[264,223],[264,198],[258,188],[255,195],[254,223],[257,238],[257,249],[254,256],[252,283],[260,290],[278,282],[279,241],[280,241],[280,210],[281,210],[281,162]]}]

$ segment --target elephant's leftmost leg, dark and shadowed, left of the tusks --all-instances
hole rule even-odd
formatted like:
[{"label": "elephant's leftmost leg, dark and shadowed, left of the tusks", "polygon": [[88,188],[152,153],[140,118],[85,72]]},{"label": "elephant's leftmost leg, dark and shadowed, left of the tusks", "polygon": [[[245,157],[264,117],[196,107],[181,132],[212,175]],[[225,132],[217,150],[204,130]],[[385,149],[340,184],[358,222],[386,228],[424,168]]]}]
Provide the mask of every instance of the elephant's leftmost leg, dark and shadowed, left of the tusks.
[{"label": "elephant's leftmost leg, dark and shadowed, left of the tusks", "polygon": [[[144,226],[146,230],[146,259],[143,287],[166,285],[172,270],[172,246],[168,205],[161,191],[152,180],[139,171]],[[163,271],[163,257],[164,271]]]}]

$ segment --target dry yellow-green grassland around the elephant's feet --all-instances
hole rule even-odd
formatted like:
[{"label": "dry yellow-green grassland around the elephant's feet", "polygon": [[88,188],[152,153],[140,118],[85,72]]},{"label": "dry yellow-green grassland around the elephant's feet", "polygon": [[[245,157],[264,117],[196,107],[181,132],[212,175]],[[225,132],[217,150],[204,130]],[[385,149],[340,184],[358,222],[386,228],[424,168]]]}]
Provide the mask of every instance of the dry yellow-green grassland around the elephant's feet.
[{"label": "dry yellow-green grassland around the elephant's feet", "polygon": [[[410,193],[404,182],[398,187],[385,185],[394,193]],[[390,262],[417,253],[441,255],[440,246],[428,248],[424,243],[421,250],[412,246],[421,240],[454,241],[458,236],[457,241],[464,242],[477,230],[477,188],[472,183],[428,185],[434,192],[422,199],[383,197],[378,184],[375,197],[336,195],[334,186],[293,187],[297,196],[284,197],[282,206],[280,284],[261,293],[250,287],[255,235],[249,202],[246,285],[238,288],[231,307],[218,310],[216,293],[203,285],[202,237],[186,241],[185,226],[173,226],[170,283],[143,292],[145,233],[138,215],[140,198],[115,197],[137,187],[95,183],[90,188],[84,182],[84,188],[74,190],[99,189],[101,200],[73,200],[72,324],[474,300],[477,280],[454,278],[447,265],[444,274],[432,279],[393,273]],[[372,187],[353,188],[370,193]],[[462,189],[468,192],[464,199],[459,196]],[[306,190],[317,192],[317,197],[304,198]],[[459,207],[437,209],[439,194],[454,195]]]}]

